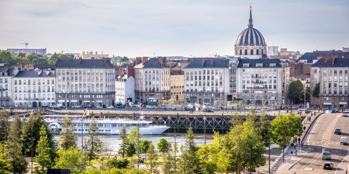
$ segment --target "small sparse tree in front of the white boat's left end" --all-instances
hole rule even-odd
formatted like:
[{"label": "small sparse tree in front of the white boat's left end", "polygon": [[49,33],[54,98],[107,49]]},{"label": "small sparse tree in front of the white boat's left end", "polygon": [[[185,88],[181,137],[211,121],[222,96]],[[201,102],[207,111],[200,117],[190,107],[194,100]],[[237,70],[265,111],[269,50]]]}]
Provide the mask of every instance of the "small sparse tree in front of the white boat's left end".
[{"label": "small sparse tree in front of the white boat's left end", "polygon": [[77,137],[74,135],[74,124],[68,116],[64,118],[60,134],[62,137],[59,145],[62,149],[67,150],[76,147]]}]

